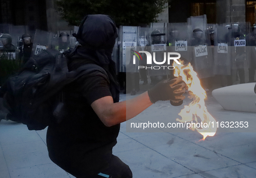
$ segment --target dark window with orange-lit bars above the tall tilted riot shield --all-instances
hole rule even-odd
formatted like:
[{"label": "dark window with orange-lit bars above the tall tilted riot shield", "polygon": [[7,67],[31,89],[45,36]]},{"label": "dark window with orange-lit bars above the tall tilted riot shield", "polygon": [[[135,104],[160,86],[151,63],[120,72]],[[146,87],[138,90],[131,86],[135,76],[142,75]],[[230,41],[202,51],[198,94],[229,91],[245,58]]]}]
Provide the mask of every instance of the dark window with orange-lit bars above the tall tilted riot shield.
[{"label": "dark window with orange-lit bars above the tall tilted riot shield", "polygon": [[194,0],[190,4],[191,16],[202,16],[206,14],[207,23],[216,23],[216,0]]}]

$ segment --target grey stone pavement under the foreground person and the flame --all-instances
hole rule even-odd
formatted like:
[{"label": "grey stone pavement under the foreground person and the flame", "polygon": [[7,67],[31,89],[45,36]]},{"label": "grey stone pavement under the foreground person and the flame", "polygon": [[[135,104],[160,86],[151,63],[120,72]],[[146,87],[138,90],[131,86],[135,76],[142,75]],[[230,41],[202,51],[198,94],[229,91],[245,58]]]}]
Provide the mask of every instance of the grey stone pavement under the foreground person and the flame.
[{"label": "grey stone pavement under the foreground person and the flame", "polygon": [[[120,99],[131,97],[121,94]],[[125,122],[113,154],[130,166],[133,178],[256,178],[256,113],[226,111],[211,95],[206,106],[217,121],[246,120],[250,127],[243,132],[218,129],[213,137],[199,141],[202,136],[196,131],[128,132]],[[174,122],[183,107],[158,102],[130,121],[144,122],[154,112],[168,110]],[[29,131],[26,125],[2,120],[0,178],[74,178],[49,159],[45,137],[46,129]]]}]

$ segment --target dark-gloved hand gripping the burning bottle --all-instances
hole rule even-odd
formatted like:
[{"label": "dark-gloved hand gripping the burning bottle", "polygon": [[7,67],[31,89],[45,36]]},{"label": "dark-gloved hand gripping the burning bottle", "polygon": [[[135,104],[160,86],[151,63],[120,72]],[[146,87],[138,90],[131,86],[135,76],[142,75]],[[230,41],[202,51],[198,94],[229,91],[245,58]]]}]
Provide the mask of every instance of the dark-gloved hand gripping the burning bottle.
[{"label": "dark-gloved hand gripping the burning bottle", "polygon": [[149,99],[152,103],[156,103],[159,100],[181,101],[185,99],[185,96],[182,96],[186,91],[185,87],[186,84],[182,81],[182,77],[172,80],[165,79],[148,90]]}]

